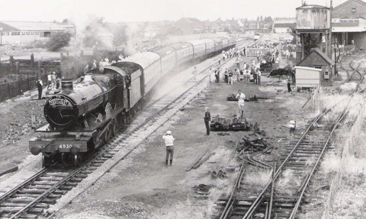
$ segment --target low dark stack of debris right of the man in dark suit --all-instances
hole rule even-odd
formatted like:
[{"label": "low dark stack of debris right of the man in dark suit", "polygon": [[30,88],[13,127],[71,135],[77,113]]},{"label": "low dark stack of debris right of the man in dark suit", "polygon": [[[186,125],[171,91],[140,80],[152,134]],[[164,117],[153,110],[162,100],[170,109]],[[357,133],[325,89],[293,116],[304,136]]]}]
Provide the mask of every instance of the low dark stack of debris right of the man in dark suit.
[{"label": "low dark stack of debris right of the man in dark suit", "polygon": [[222,130],[259,130],[259,124],[254,125],[243,117],[224,118],[216,115],[210,124],[211,131],[222,131]]}]

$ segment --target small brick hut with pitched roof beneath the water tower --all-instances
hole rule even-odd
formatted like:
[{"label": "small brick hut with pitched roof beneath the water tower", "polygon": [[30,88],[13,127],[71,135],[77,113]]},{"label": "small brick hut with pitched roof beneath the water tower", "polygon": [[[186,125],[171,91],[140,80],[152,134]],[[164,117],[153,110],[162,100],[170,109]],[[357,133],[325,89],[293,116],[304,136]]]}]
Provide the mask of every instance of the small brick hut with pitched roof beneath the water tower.
[{"label": "small brick hut with pitched roof beneath the water tower", "polygon": [[[301,60],[301,52],[296,54],[296,59]],[[310,67],[316,69],[322,69],[321,72],[321,85],[332,85],[334,75],[334,62],[323,53],[319,48],[312,48],[311,52],[305,56],[297,66]]]}]

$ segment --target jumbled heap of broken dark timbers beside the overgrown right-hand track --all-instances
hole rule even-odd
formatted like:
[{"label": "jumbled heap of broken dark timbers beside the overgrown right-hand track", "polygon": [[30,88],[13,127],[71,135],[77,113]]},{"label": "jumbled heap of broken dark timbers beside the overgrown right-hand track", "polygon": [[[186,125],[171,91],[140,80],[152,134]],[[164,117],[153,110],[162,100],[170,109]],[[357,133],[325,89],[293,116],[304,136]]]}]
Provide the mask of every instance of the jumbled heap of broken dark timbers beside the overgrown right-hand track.
[{"label": "jumbled heap of broken dark timbers beside the overgrown right-hand track", "polygon": [[245,135],[243,137],[244,141],[239,143],[237,150],[241,151],[244,149],[244,151],[262,151],[264,153],[270,153],[271,151],[269,150],[272,149],[272,147],[266,142],[265,134],[264,130],[260,130]]}]

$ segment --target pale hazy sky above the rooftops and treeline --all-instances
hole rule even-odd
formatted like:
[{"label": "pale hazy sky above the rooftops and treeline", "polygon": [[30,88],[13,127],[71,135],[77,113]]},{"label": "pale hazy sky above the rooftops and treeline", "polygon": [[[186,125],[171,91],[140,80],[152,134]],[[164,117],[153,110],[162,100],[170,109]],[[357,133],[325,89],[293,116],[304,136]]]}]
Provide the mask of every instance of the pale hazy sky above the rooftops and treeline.
[{"label": "pale hazy sky above the rooftops and treeline", "polygon": [[[337,6],[346,0],[333,0]],[[330,0],[306,0],[329,6]],[[178,20],[182,17],[216,20],[258,16],[295,17],[302,0],[0,0],[0,20],[86,22],[88,15],[109,22]]]}]

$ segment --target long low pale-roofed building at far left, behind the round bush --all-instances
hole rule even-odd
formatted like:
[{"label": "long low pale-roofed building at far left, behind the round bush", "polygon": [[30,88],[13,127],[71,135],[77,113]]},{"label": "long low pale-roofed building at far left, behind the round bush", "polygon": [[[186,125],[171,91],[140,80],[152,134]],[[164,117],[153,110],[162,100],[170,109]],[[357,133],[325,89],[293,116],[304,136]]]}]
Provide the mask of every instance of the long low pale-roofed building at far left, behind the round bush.
[{"label": "long low pale-roofed building at far left, behind the round bush", "polygon": [[68,32],[75,37],[75,26],[60,22],[0,21],[1,43],[22,44],[56,32]]}]

